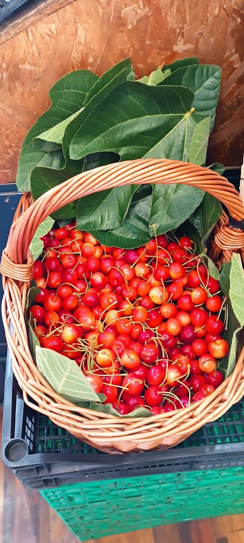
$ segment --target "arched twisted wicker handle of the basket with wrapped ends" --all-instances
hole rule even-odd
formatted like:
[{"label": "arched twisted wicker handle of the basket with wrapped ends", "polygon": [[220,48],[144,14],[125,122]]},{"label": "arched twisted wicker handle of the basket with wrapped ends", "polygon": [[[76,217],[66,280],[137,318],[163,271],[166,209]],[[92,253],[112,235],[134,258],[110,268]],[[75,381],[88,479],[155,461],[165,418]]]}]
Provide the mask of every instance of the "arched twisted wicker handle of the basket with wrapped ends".
[{"label": "arched twisted wicker handle of the basket with wrapped ends", "polygon": [[[7,247],[2,255],[1,273],[15,281],[30,281],[33,259],[28,248],[31,239],[42,221],[63,205],[108,188],[148,183],[184,184],[201,188],[225,204],[233,218],[244,218],[239,193],[226,178],[209,168],[167,159],[116,162],[76,175],[50,189],[31,204],[11,226]],[[224,224],[218,232],[216,243],[223,249],[227,245],[230,250],[241,248],[244,245],[244,232],[230,229],[228,224]]]}]

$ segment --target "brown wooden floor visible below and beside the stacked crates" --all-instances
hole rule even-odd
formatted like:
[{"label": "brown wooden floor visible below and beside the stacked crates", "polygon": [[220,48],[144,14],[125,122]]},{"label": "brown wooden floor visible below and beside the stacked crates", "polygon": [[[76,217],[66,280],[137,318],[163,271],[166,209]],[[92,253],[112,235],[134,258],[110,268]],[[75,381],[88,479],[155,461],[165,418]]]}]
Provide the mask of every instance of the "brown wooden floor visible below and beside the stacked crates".
[{"label": "brown wooden floor visible below and beside the stacked crates", "polygon": [[[78,539],[69,532],[38,491],[24,488],[1,461],[0,534],[1,543],[78,543]],[[176,525],[112,535],[96,541],[97,543],[244,543],[244,514],[181,522]]]}]

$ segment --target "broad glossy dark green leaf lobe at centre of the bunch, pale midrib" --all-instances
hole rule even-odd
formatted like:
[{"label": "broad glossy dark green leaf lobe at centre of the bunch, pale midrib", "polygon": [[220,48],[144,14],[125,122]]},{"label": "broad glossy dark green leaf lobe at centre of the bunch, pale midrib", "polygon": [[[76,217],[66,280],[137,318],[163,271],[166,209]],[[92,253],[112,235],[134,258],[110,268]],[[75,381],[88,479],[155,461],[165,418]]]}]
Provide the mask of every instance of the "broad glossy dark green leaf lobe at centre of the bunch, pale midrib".
[{"label": "broad glossy dark green leaf lobe at centre of the bunch, pale midrib", "polygon": [[81,125],[70,144],[70,157],[78,160],[97,151],[114,151],[123,160],[143,157],[188,116],[192,96],[181,87],[121,83]]}]

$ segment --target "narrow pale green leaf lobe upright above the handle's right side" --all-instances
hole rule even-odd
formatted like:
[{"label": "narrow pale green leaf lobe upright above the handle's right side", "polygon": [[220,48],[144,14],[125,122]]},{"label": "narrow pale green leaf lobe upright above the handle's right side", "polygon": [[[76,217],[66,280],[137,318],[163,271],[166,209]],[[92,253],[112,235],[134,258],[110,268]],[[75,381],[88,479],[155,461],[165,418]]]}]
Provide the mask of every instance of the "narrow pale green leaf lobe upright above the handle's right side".
[{"label": "narrow pale green leaf lobe upright above the handle's right side", "polygon": [[190,145],[189,145],[189,162],[203,166],[206,161],[208,138],[210,132],[210,117],[204,118],[200,123],[196,124]]}]

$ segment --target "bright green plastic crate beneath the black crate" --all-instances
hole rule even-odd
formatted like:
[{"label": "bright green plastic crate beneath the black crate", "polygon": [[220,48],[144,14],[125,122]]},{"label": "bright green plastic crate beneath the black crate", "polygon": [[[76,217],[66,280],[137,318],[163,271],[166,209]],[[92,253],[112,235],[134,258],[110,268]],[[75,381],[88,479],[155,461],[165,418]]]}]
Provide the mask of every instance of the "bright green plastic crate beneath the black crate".
[{"label": "bright green plastic crate beneath the black crate", "polygon": [[244,512],[244,468],[81,482],[41,490],[81,541]]}]

